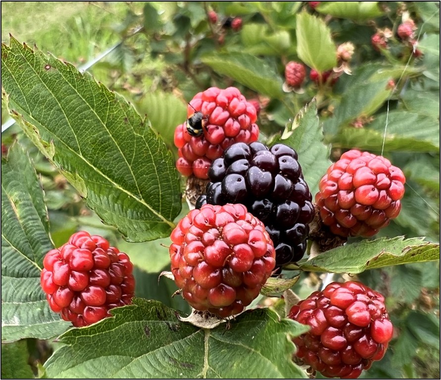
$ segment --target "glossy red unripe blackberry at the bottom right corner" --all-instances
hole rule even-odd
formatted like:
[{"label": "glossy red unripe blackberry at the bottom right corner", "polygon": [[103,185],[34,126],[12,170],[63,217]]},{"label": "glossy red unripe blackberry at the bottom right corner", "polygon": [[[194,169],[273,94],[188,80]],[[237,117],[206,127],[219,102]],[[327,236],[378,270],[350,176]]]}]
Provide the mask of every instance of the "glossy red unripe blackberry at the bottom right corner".
[{"label": "glossy red unripe blackberry at the bottom right corner", "polygon": [[328,378],[356,379],[381,360],[393,327],[384,297],[357,281],[332,282],[291,308],[310,330],[293,339],[296,356]]}]

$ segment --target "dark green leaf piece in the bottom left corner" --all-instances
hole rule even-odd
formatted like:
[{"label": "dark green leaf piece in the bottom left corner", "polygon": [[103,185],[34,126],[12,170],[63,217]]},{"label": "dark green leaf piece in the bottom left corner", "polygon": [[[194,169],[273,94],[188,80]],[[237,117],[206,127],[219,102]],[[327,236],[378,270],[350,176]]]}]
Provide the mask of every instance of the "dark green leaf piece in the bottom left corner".
[{"label": "dark green leaf piece in the bottom left corner", "polygon": [[34,379],[26,340],[1,344],[1,379]]}]

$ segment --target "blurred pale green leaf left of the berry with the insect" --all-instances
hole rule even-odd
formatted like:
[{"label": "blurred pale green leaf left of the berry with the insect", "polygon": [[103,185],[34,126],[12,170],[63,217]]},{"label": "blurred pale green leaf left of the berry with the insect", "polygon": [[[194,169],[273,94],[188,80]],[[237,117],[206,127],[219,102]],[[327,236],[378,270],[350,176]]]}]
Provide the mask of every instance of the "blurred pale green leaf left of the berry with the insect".
[{"label": "blurred pale green leaf left of the berry with the insect", "polygon": [[147,93],[138,102],[140,113],[146,113],[152,128],[157,130],[169,147],[174,147],[173,136],[179,124],[187,120],[186,105],[173,94]]}]

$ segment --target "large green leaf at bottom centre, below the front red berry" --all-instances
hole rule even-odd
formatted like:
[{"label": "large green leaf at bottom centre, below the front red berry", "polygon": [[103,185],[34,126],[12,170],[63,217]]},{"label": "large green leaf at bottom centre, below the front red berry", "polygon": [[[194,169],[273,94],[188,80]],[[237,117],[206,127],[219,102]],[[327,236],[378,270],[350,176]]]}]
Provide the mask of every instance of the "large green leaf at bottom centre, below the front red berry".
[{"label": "large green leaf at bottom centre, below the front red berry", "polygon": [[214,329],[178,320],[156,301],[136,299],[114,317],[72,329],[49,358],[49,378],[306,378],[292,361],[291,336],[307,327],[269,309],[247,311]]}]

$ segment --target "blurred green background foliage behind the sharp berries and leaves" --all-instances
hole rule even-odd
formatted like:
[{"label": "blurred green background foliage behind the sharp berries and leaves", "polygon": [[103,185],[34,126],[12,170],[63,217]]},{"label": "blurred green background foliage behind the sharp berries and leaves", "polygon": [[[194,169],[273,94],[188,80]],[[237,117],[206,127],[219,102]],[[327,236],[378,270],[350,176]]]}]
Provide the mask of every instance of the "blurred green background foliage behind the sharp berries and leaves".
[{"label": "blurred green background foliage behind the sharp berries and leaves", "polygon": [[[146,114],[175,153],[173,132],[187,118],[186,103],[210,86],[234,85],[248,100],[259,102],[263,141],[282,133],[289,119],[315,96],[325,142],[332,146],[332,160],[357,147],[384,153],[406,174],[400,216],[377,237],[425,236],[439,242],[439,2],[381,1],[364,7],[360,4],[367,2],[339,2],[358,3],[353,9],[336,3],[322,2],[314,9],[304,1],[3,1],[1,41],[7,43],[11,34],[78,68],[113,48],[88,71],[124,95],[140,114]],[[216,23],[209,22],[210,11],[216,12]],[[313,48],[317,38],[314,29],[305,26],[306,46],[298,43],[295,15],[299,12],[317,17],[320,25],[329,28],[334,46],[328,47],[331,52],[344,42],[355,46],[351,75],[341,72],[334,86],[307,79],[302,91],[282,90],[286,63],[301,61],[306,53],[313,57],[319,53]],[[234,17],[242,19],[240,30],[231,28]],[[412,47],[396,36],[404,17],[415,21],[421,56],[415,57]],[[388,35],[388,49],[372,46],[371,38],[379,31]],[[327,29],[318,33],[327,33]],[[313,67],[323,64],[314,58],[303,63]],[[393,91],[386,91],[389,80],[396,85]],[[2,108],[1,123],[7,120],[7,110]],[[159,273],[169,265],[168,238],[146,243],[123,241],[113,227],[102,224],[86,208],[17,125],[2,133],[2,155],[14,140],[27,148],[41,175],[56,246],[77,230],[100,234],[130,254],[136,265],[136,296],[189,311],[180,297],[171,297],[177,290],[172,281],[158,281]],[[310,187],[313,192],[316,184]],[[184,204],[177,220],[187,211]],[[302,273],[294,291],[304,298],[320,288],[323,278]],[[358,278],[385,294],[396,327],[385,359],[374,363],[362,377],[439,378],[439,263],[365,271]],[[28,345],[29,358],[19,359],[30,364],[34,374],[57,347],[53,342],[28,339],[8,345],[7,350],[2,345],[2,358],[13,356],[15,344]],[[24,371],[23,376],[29,373]]]}]

